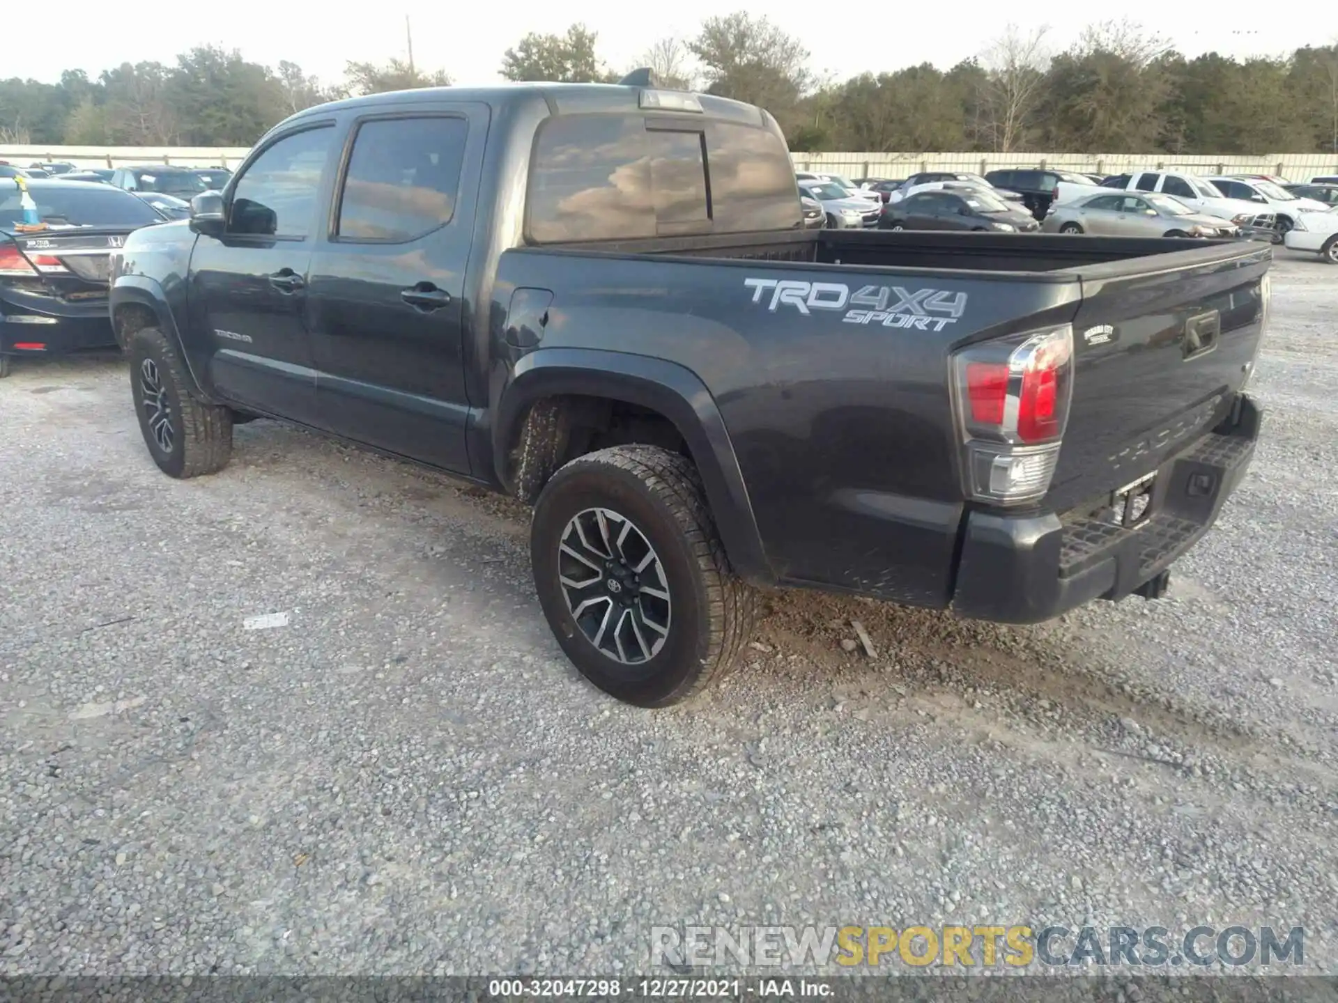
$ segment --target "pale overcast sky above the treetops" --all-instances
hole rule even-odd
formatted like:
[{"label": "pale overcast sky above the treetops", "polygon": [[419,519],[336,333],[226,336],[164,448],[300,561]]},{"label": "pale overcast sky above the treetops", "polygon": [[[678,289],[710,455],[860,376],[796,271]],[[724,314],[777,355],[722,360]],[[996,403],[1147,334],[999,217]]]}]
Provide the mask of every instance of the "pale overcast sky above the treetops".
[{"label": "pale overcast sky above the treetops", "polygon": [[[241,49],[246,59],[270,66],[281,59],[298,63],[325,82],[341,78],[347,60],[380,62],[404,58],[404,17],[413,29],[413,59],[423,68],[446,70],[456,83],[498,80],[502,53],[526,32],[562,32],[577,19],[559,13],[553,0],[506,3],[413,3],[385,0],[371,4],[226,0],[222,4],[169,5],[155,12],[106,0],[68,0],[59,7],[11,7],[9,29],[32,17],[36,44],[11,37],[0,55],[0,78],[21,76],[56,82],[64,68],[83,68],[96,78],[122,62],[171,63],[193,45],[218,44]],[[60,11],[56,31],[52,15]],[[656,37],[692,37],[704,17],[732,9],[765,13],[785,31],[803,39],[812,68],[843,79],[868,71],[896,70],[930,62],[949,68],[975,55],[1002,32],[1009,13],[1045,11],[1053,41],[1070,43],[1100,4],[894,3],[819,4],[759,3],[759,0],[585,0],[579,20],[599,33],[599,56],[614,68],[634,66]],[[1322,45],[1338,37],[1338,4],[1282,5],[1271,13],[1242,7],[1250,16],[1223,16],[1222,4],[1155,4],[1123,9],[1155,11],[1144,24],[1167,36],[1181,52],[1216,49],[1226,55],[1280,55],[1298,45]],[[840,12],[847,11],[843,19]],[[886,11],[886,16],[880,12]],[[128,12],[128,16],[127,13]],[[842,21],[846,27],[840,27]],[[1235,27],[1231,27],[1235,25]],[[56,33],[54,33],[56,32]]]}]

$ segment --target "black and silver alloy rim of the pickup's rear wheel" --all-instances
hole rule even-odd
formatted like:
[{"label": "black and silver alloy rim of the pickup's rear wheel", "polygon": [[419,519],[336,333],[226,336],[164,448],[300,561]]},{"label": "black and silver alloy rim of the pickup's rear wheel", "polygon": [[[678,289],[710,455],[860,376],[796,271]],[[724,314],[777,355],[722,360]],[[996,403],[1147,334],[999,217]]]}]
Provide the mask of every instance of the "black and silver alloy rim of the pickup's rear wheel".
[{"label": "black and silver alloy rim of the pickup's rear wheel", "polygon": [[649,662],[669,638],[673,607],[664,564],[630,519],[577,512],[558,544],[558,580],[581,633],[621,665]]}]

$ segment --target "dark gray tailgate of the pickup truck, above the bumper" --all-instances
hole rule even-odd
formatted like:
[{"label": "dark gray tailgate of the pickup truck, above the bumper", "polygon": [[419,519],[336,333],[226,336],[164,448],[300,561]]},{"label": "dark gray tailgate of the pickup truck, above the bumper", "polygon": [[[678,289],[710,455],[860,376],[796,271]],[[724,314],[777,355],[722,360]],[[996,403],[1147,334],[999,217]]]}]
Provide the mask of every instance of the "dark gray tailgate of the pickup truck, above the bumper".
[{"label": "dark gray tailgate of the pickup truck, above the bumper", "polygon": [[1151,473],[1227,416],[1259,350],[1272,251],[1212,250],[1072,269],[1082,305],[1052,511]]}]

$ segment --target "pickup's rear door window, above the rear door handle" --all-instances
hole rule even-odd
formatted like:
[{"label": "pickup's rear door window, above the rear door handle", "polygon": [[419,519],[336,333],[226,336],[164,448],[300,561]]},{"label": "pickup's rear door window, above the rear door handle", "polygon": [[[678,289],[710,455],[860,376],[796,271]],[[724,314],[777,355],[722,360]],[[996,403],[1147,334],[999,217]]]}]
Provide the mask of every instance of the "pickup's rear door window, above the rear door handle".
[{"label": "pickup's rear door window, above the rear door handle", "polygon": [[413,241],[446,226],[464,163],[470,123],[458,116],[373,119],[357,127],[336,234]]}]

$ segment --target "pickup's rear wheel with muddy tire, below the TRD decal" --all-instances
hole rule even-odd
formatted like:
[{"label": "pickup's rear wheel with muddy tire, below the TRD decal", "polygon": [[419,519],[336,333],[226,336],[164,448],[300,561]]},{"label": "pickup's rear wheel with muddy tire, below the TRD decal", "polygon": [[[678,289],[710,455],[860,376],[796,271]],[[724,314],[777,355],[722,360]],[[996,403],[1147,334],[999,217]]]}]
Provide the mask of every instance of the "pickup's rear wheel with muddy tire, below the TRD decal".
[{"label": "pickup's rear wheel with muddy tire, below the TRD decal", "polygon": [[530,554],[558,645],[621,701],[664,707],[724,674],[755,592],[729,568],[692,461],[649,445],[581,456],[545,485]]}]

